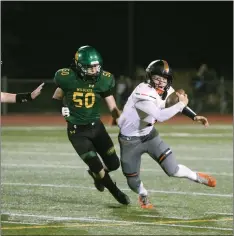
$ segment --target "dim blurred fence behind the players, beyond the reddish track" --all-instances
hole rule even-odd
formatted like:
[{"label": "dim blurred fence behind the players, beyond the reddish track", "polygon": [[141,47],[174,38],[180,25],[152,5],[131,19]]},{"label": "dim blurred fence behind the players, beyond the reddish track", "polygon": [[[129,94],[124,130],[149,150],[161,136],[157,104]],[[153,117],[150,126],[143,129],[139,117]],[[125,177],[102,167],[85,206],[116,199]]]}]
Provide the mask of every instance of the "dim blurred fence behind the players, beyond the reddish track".
[{"label": "dim blurred fence behind the players, beyond the reddish track", "polygon": [[[216,113],[216,114],[232,114],[233,111],[233,81],[225,80],[224,77],[216,81],[208,83],[209,92],[196,96],[193,94],[190,82],[183,76],[178,76],[180,79],[175,79],[173,83],[174,88],[184,88],[189,95],[189,106],[196,112]],[[188,76],[186,76],[188,77]],[[124,85],[127,80],[120,80],[116,78],[116,99],[120,108],[126,102],[126,98],[131,93],[132,89],[140,80],[132,82],[128,92],[124,93]],[[9,93],[20,93],[33,91],[40,83],[45,82],[43,93],[33,102],[27,104],[2,104],[1,114],[10,115],[13,113],[40,113],[53,114],[58,110],[52,101],[52,95],[56,89],[52,79],[7,79],[3,77],[1,80],[1,91]],[[127,83],[127,82],[126,82]],[[129,86],[129,83],[128,83]],[[120,89],[121,88],[121,89]],[[101,107],[102,114],[108,113],[108,109],[104,102]]]}]

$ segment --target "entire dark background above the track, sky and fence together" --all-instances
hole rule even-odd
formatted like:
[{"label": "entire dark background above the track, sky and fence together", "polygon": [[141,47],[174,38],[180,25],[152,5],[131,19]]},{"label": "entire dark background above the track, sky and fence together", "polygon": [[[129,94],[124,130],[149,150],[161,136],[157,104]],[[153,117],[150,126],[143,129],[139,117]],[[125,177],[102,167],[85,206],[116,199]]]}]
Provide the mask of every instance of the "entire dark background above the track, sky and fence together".
[{"label": "entire dark background above the track, sky and fence together", "polygon": [[1,36],[1,91],[45,82],[33,103],[2,104],[2,115],[57,113],[53,76],[83,45],[95,47],[114,74],[121,109],[147,65],[164,59],[194,111],[232,114],[233,2],[4,1]]}]

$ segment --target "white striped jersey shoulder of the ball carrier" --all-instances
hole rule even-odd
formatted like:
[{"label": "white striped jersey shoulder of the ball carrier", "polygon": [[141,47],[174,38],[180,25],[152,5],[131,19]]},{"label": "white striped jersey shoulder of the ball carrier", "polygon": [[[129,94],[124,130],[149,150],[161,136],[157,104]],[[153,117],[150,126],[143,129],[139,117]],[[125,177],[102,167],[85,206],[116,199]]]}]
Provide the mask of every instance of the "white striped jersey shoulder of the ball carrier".
[{"label": "white striped jersey shoulder of the ball carrier", "polygon": [[154,88],[146,83],[139,84],[133,91],[133,97],[136,100],[149,100],[155,101],[158,98],[158,94]]}]

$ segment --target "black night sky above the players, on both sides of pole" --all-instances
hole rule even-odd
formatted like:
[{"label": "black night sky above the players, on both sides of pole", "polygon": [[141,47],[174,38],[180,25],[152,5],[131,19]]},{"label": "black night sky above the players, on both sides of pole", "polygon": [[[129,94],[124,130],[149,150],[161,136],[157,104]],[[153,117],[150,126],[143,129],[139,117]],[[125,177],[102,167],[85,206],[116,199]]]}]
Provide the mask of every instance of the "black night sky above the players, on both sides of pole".
[{"label": "black night sky above the players, on both sides of pole", "polygon": [[[52,78],[75,50],[94,46],[104,68],[128,74],[128,2],[1,2],[3,73]],[[233,2],[134,2],[133,63],[165,59],[233,71]]]}]

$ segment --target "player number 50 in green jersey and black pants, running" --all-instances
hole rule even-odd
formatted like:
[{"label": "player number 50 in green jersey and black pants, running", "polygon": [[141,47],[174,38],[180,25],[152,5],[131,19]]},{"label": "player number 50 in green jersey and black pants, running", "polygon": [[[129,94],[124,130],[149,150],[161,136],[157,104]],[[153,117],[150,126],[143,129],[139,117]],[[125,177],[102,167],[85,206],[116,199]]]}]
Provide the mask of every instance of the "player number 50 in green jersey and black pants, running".
[{"label": "player number 50 in green jersey and black pants, running", "polygon": [[119,203],[127,205],[130,203],[129,197],[120,191],[108,173],[117,170],[120,161],[100,120],[102,98],[114,119],[119,117],[120,111],[113,97],[114,77],[104,71],[102,65],[101,55],[96,49],[91,46],[80,47],[71,67],[55,73],[54,81],[58,87],[53,99],[64,99],[66,103],[62,114],[67,121],[68,138],[89,166],[88,173],[94,179],[96,188],[102,192],[106,187]]}]

